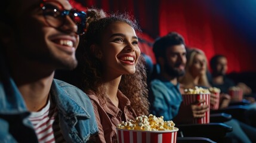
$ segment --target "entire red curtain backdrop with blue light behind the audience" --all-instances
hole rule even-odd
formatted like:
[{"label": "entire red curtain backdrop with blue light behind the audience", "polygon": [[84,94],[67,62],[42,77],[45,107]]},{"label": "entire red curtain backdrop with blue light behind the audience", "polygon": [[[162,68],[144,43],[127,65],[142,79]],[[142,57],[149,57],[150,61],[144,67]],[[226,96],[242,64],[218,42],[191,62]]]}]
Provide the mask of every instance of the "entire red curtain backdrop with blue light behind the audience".
[{"label": "entire red curtain backdrop with blue light behind the audience", "polygon": [[[256,72],[256,1],[247,0],[72,0],[76,8],[102,8],[134,15],[142,32],[141,51],[155,59],[152,42],[175,31],[208,60],[226,55],[228,72],[236,79],[254,79]],[[251,83],[255,85],[254,83]]]}]

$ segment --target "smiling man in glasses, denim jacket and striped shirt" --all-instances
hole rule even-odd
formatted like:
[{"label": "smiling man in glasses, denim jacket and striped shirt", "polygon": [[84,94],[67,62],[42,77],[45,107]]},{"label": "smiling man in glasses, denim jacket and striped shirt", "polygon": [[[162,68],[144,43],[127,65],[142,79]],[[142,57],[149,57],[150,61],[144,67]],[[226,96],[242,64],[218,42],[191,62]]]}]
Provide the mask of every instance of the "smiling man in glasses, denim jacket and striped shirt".
[{"label": "smiling man in glasses, denim jacket and striped shirt", "polygon": [[0,6],[0,142],[86,142],[98,132],[87,95],[54,79],[74,69],[86,14],[66,0]]}]

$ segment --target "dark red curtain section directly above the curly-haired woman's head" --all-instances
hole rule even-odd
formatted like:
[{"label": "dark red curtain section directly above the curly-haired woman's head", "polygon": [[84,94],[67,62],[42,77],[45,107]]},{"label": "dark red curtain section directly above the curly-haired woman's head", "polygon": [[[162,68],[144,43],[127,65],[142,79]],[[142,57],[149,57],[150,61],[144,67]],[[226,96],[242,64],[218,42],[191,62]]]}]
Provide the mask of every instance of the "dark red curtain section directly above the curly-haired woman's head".
[{"label": "dark red curtain section directly above the curly-haired woman's head", "polygon": [[102,8],[107,13],[129,13],[138,21],[141,29],[147,35],[158,35],[158,8],[159,1],[155,0],[69,0],[73,4],[84,7]]}]

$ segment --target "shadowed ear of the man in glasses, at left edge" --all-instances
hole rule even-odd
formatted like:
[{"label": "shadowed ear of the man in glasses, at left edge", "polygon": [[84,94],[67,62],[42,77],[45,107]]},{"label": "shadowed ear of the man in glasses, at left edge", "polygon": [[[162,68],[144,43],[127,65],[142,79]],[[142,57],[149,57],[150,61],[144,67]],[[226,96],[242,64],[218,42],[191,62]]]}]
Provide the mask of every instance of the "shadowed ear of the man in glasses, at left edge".
[{"label": "shadowed ear of the man in glasses, at left edge", "polygon": [[0,21],[0,41],[4,45],[8,45],[13,37],[13,29],[6,23]]}]

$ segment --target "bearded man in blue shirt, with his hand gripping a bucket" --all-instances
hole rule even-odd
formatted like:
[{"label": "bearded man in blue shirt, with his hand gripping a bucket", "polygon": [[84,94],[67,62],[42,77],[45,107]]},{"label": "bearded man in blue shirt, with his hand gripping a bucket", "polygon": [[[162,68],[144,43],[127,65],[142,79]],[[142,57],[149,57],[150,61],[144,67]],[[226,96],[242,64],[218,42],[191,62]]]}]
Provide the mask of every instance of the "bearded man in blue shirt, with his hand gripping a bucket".
[{"label": "bearded man in blue shirt, with his hand gripping a bucket", "polygon": [[174,120],[175,123],[188,123],[193,117],[205,116],[208,106],[198,106],[198,103],[204,101],[187,107],[180,106],[183,90],[180,89],[178,77],[185,74],[187,61],[183,37],[175,32],[168,33],[155,41],[153,52],[160,72],[150,82],[151,113],[164,116],[164,120]]}]

